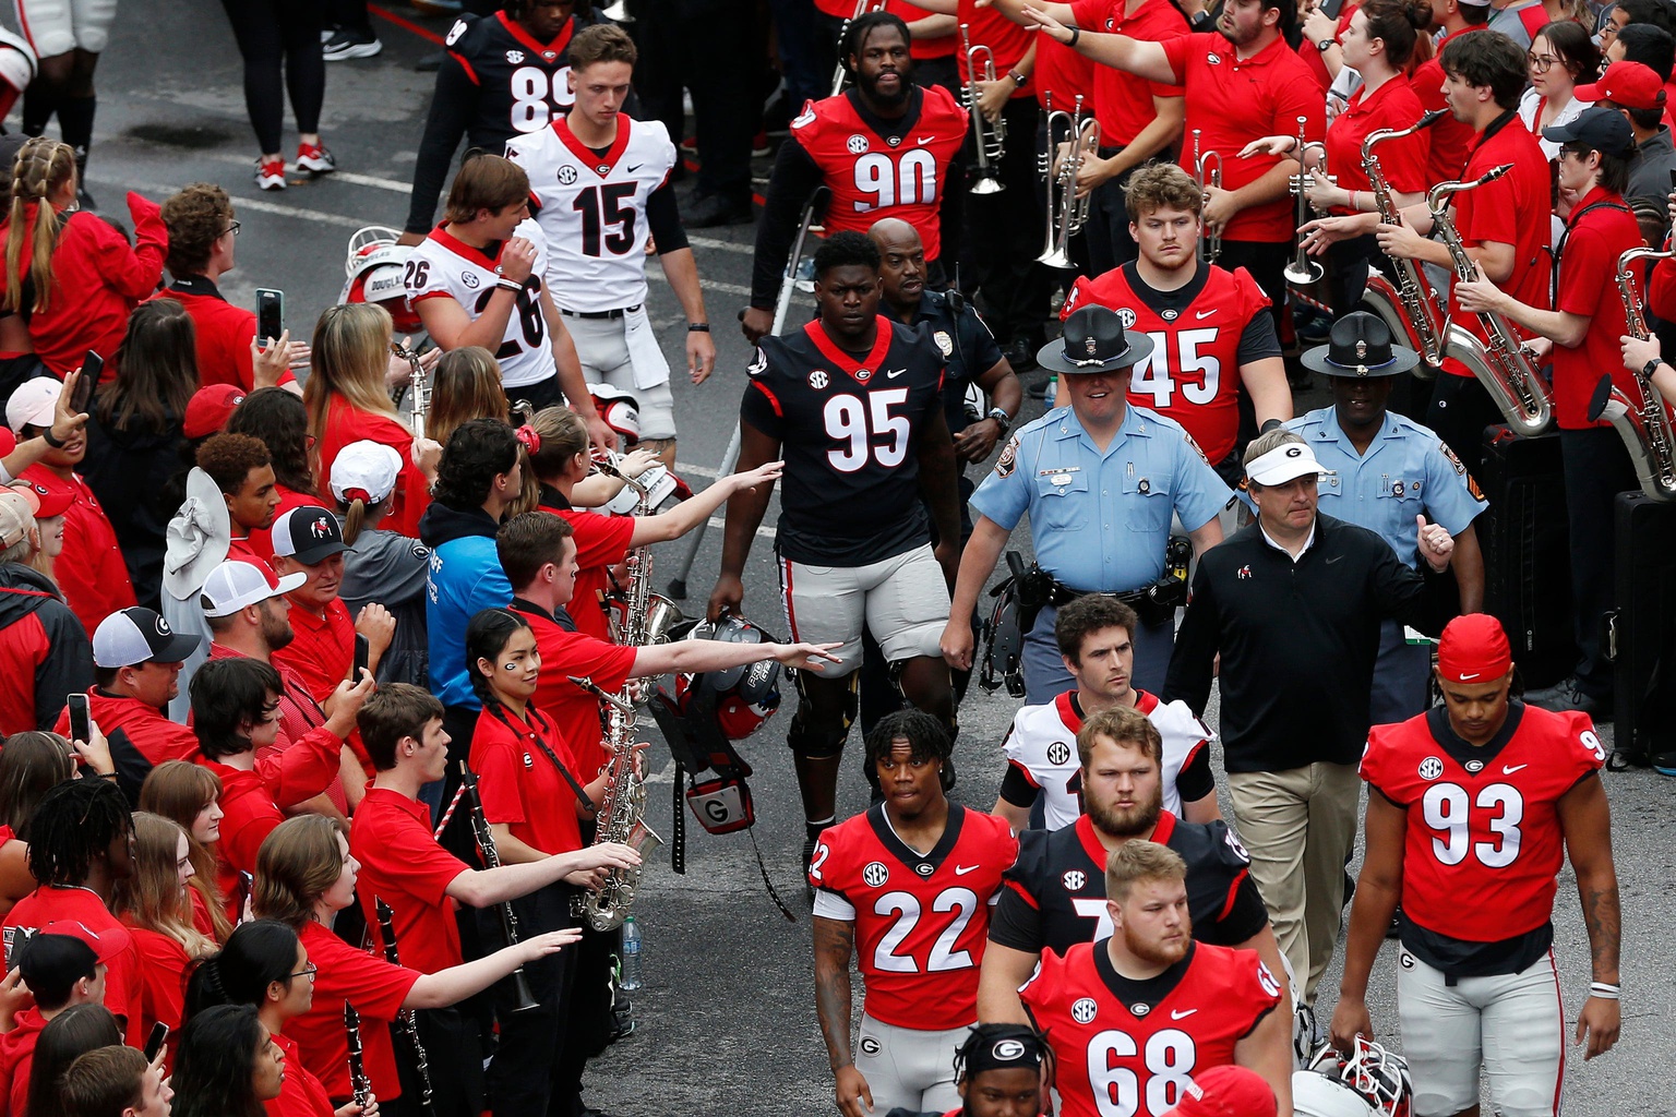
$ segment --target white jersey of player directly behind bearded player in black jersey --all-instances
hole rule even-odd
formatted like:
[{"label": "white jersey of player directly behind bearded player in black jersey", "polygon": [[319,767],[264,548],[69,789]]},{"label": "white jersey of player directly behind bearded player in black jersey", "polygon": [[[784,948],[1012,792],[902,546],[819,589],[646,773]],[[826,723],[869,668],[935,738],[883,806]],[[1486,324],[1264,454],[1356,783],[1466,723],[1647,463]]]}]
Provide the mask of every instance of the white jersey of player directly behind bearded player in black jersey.
[{"label": "white jersey of player directly behind bearded player in black jersey", "polygon": [[[1042,790],[1044,826],[1049,831],[1069,826],[1083,814],[1083,764],[1076,757],[1076,730],[1083,727],[1083,718],[1071,705],[1073,693],[1068,690],[1053,702],[1014,713],[1012,728],[1002,742],[1007,764]],[[1175,777],[1195,752],[1210,745],[1215,734],[1193,717],[1185,702],[1165,705],[1155,695],[1136,690],[1135,708],[1163,737],[1163,809],[1180,817],[1182,795]]]}]

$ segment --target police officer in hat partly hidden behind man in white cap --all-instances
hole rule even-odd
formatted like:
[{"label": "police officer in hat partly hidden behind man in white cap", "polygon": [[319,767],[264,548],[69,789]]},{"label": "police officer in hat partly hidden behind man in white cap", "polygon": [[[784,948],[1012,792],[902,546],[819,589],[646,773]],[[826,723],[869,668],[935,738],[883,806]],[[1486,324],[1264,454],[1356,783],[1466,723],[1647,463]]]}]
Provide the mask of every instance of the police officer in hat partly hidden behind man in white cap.
[{"label": "police officer in hat partly hidden behind man in white cap", "polygon": [[[1389,360],[1368,363],[1386,348]],[[1460,611],[1482,611],[1483,554],[1472,522],[1485,509],[1483,494],[1436,434],[1386,410],[1394,377],[1413,368],[1418,355],[1391,345],[1383,318],[1356,311],[1339,318],[1327,343],[1302,360],[1332,383],[1332,407],[1285,424],[1321,462],[1321,511],[1379,533],[1410,569],[1420,568],[1415,517],[1441,524],[1455,536]],[[1379,628],[1373,723],[1403,722],[1425,710],[1430,672],[1430,648],[1410,645],[1403,623],[1388,618]]]}]

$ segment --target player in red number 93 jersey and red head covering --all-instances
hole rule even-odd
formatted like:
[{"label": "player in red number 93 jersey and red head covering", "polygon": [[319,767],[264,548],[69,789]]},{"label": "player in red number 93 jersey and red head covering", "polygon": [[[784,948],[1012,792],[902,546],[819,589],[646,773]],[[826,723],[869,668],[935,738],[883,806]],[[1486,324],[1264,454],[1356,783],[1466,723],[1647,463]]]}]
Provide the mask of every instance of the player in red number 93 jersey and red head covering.
[{"label": "player in red number 93 jersey and red head covering", "polygon": [[[1373,1037],[1368,973],[1398,913],[1396,1008],[1416,1117],[1559,1112],[1565,1011],[1554,963],[1555,876],[1577,874],[1594,981],[1584,1058],[1617,1042],[1617,871],[1601,787],[1606,745],[1585,713],[1513,702],[1500,621],[1456,616],[1438,643],[1443,708],[1374,725],[1363,754],[1368,856],[1356,884],[1332,1043]],[[1472,898],[1472,903],[1461,903]]]}]

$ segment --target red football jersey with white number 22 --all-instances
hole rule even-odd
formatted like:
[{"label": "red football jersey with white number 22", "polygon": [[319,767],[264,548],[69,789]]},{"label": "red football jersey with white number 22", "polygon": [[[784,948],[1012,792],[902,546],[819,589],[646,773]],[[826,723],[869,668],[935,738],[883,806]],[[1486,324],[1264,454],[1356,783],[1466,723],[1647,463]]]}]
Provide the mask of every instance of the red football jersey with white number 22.
[{"label": "red football jersey with white number 22", "polygon": [[810,884],[853,909],[856,968],[868,1017],[940,1032],[977,1020],[977,966],[989,938],[989,903],[1019,856],[1019,839],[992,814],[949,807],[942,841],[923,857],[883,807],[821,834]]}]

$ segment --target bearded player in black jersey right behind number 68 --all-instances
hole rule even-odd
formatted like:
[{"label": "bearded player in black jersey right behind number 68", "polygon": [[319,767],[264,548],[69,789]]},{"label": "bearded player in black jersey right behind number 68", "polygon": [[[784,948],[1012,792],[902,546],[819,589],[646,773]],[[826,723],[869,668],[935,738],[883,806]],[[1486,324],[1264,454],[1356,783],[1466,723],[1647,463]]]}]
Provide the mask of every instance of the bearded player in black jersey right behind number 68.
[{"label": "bearded player in black jersey right behind number 68", "polygon": [[1250,879],[1250,857],[1225,822],[1183,822],[1163,809],[1163,740],[1146,715],[1113,707],[1076,732],[1086,814],[1058,831],[1019,834],[989,924],[979,981],[979,1020],[1024,1020],[1019,986],[1044,951],[1111,934],[1106,857],[1135,842],[1168,846],[1187,869],[1193,934],[1202,943],[1255,950],[1269,970],[1285,963],[1269,911]]}]

